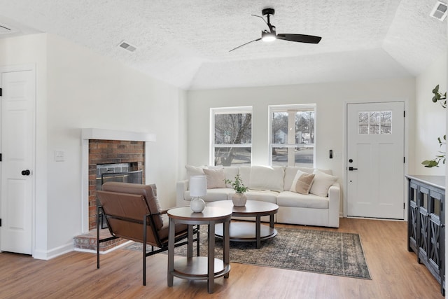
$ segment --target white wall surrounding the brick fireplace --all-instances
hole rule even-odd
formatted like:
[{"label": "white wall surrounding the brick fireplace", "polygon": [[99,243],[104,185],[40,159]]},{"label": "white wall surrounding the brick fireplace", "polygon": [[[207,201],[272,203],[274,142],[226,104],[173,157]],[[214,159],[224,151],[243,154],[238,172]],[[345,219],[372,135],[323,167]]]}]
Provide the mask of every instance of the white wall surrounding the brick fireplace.
[{"label": "white wall surrounding the brick fireplace", "polygon": [[[185,91],[51,34],[0,40],[0,53],[0,65],[38,70],[36,188],[45,192],[36,196],[35,257],[71,250],[82,230],[81,128],[155,134],[146,180],[157,184],[162,207],[175,205],[186,164]],[[55,162],[55,150],[64,151],[64,162]]]}]

